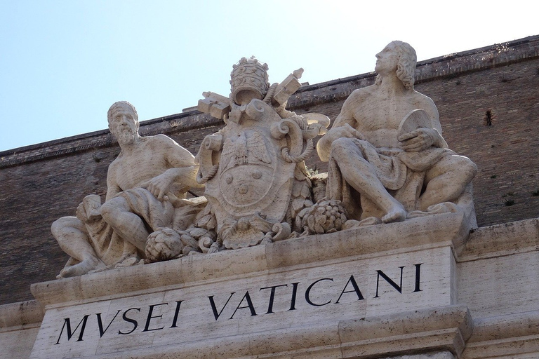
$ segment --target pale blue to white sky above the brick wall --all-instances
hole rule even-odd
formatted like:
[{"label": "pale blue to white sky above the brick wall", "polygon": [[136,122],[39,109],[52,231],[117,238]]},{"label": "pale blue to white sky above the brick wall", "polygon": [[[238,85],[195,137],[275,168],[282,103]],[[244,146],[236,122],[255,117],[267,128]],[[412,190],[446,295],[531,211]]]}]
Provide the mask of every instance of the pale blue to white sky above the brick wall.
[{"label": "pale blue to white sky above the brick wall", "polygon": [[427,60],[539,34],[535,1],[364,2],[0,0],[0,151],[107,128],[119,100],[144,121],[228,95],[241,57],[312,84],[373,71],[392,40]]}]

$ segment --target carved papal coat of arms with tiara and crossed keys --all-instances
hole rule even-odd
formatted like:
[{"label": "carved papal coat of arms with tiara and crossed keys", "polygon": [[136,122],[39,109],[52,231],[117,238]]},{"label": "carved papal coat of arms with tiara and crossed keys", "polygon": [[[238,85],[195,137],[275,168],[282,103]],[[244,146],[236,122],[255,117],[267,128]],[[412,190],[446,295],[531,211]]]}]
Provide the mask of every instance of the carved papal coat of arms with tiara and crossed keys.
[{"label": "carved papal coat of arms with tiara and crossed keys", "polygon": [[226,123],[206,136],[197,155],[198,180],[206,184],[209,203],[206,215],[215,216],[214,248],[288,238],[295,215],[313,205],[304,159],[329,119],[285,109],[301,86],[302,71],[270,86],[267,65],[242,58],[231,74],[229,98],[204,93],[199,101],[200,111]]}]

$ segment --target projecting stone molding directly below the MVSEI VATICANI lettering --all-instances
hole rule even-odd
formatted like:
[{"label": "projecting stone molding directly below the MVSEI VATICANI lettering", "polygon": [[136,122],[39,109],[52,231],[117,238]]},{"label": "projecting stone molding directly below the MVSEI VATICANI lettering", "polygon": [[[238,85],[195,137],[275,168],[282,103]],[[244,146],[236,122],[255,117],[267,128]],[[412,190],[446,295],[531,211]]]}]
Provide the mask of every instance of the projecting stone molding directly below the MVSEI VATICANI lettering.
[{"label": "projecting stone molding directly below the MVSEI VATICANI lettering", "polygon": [[[444,306],[326,325],[293,327],[159,348],[139,348],[122,358],[383,358],[387,355],[445,351],[460,358],[473,330],[466,306]],[[118,358],[118,353],[92,359]],[[420,356],[419,358],[423,358]],[[427,355],[430,358],[430,355]],[[441,357],[450,358],[446,353]]]}]

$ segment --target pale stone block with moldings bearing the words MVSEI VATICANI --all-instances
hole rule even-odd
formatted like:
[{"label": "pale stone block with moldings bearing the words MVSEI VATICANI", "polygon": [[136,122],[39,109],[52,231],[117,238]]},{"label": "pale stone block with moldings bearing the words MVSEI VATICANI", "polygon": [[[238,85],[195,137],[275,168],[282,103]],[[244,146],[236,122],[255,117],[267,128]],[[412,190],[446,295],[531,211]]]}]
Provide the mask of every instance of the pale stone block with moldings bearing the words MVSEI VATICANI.
[{"label": "pale stone block with moldings bearing the words MVSEI VATICANI", "polygon": [[31,358],[459,358],[468,231],[448,213],[39,283]]}]

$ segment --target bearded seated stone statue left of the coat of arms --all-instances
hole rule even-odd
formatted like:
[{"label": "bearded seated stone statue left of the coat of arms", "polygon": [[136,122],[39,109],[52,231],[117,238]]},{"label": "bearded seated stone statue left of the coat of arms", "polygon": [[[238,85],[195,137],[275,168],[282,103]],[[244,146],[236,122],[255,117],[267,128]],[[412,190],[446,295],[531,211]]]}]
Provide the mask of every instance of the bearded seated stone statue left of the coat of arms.
[{"label": "bearded seated stone statue left of the coat of arms", "polygon": [[184,230],[200,209],[184,199],[189,187],[203,187],[187,149],[166,135],[141,137],[129,102],[112,104],[107,118],[121,151],[109,165],[105,203],[97,195],[86,196],[77,217],[52,225],[53,236],[72,257],[58,278],[134,264],[145,257],[149,233]]}]

